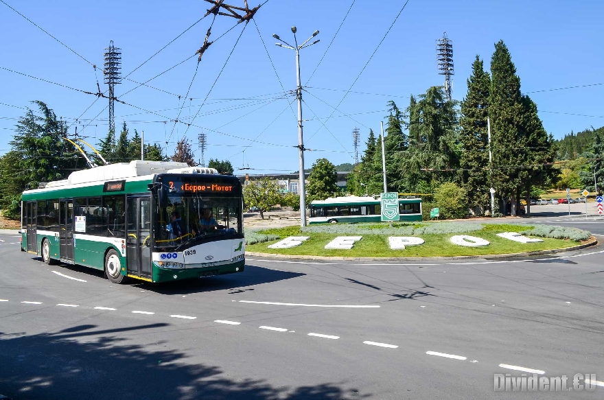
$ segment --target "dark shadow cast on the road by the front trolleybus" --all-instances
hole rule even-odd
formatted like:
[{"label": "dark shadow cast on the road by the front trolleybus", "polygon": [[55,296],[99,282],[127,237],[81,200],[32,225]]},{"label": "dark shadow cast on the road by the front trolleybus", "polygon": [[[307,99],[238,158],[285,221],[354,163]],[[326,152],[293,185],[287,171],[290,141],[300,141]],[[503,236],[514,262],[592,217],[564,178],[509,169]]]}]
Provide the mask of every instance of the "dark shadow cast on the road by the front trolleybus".
[{"label": "dark shadow cast on the road by the front trolleybus", "polygon": [[304,275],[299,272],[271,270],[269,268],[246,265],[244,272],[235,274],[165,283],[135,282],[135,286],[159,294],[192,294],[213,292],[216,290],[233,290],[231,294],[237,294],[246,290],[253,290],[251,286],[303,277]]}]

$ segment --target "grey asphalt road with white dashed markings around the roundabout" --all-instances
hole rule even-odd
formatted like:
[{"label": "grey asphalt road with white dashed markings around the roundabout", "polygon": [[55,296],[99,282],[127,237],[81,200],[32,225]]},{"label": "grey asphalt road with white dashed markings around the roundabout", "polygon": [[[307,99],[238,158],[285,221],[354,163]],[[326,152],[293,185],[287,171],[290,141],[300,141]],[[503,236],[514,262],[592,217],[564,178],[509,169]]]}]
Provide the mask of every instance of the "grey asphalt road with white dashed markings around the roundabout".
[{"label": "grey asphalt road with white dashed markings around the roundabout", "polygon": [[[583,224],[604,235],[604,222]],[[493,374],[518,368],[604,381],[604,246],[495,261],[248,257],[241,274],[113,285],[0,240],[0,393],[15,400],[604,394],[493,391]]]}]

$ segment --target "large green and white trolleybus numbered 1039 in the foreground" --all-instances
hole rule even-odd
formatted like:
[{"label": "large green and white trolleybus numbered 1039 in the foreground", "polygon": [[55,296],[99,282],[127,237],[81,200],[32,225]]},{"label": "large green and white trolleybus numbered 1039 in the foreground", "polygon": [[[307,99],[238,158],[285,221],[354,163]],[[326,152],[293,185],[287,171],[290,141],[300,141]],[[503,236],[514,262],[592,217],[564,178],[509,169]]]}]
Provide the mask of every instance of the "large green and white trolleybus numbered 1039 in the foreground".
[{"label": "large green and white trolleybus numbered 1039 in the foreground", "polygon": [[175,281],[242,272],[242,186],[185,163],[131,161],[23,192],[21,250],[47,263]]}]

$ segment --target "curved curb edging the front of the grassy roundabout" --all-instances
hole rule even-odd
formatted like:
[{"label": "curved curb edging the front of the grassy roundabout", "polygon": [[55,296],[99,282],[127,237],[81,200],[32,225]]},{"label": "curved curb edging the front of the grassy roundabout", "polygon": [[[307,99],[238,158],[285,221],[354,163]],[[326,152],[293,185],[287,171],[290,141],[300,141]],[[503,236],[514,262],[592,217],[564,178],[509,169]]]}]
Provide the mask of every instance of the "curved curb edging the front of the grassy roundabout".
[{"label": "curved curb edging the front of the grassy roundabout", "polygon": [[566,252],[573,250],[581,250],[582,248],[595,246],[598,244],[598,239],[595,236],[590,238],[582,244],[577,246],[571,246],[566,248],[553,248],[551,250],[536,250],[528,252],[513,252],[508,254],[493,254],[493,255],[458,255],[449,257],[327,257],[327,256],[313,256],[313,255],[285,255],[285,254],[272,254],[270,252],[252,252],[246,251],[246,255],[253,257],[274,257],[282,259],[313,259],[313,260],[331,260],[331,261],[423,261],[423,260],[458,260],[458,259],[504,259],[512,257],[526,257],[532,255],[544,255],[544,254],[556,254],[558,252]]}]

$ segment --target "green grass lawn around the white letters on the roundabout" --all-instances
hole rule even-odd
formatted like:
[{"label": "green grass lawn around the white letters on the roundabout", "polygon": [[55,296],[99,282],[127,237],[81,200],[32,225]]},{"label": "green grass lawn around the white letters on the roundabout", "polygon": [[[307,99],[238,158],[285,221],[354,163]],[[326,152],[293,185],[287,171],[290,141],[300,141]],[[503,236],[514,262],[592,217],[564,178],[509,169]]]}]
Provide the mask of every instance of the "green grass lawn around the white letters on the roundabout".
[{"label": "green grass lawn around the white letters on the roundabout", "polygon": [[332,257],[450,257],[459,255],[493,255],[510,254],[515,252],[529,252],[536,250],[551,250],[554,248],[566,248],[575,246],[578,242],[563,239],[549,239],[542,237],[543,242],[521,244],[509,239],[498,237],[496,233],[506,231],[520,231],[530,229],[531,226],[518,225],[487,225],[481,231],[467,233],[467,235],[481,237],[491,244],[484,247],[457,246],[450,242],[450,237],[461,235],[459,233],[445,233],[435,235],[419,235],[425,243],[420,246],[407,246],[405,250],[391,250],[388,246],[388,235],[362,235],[363,238],[356,242],[351,250],[325,250],[324,246],[331,242],[337,235],[333,233],[301,233],[298,226],[287,228],[276,228],[262,231],[279,235],[281,239],[288,236],[310,236],[300,246],[287,249],[270,249],[268,245],[277,242],[257,243],[246,246],[247,251],[265,252],[284,255],[318,255]]}]

